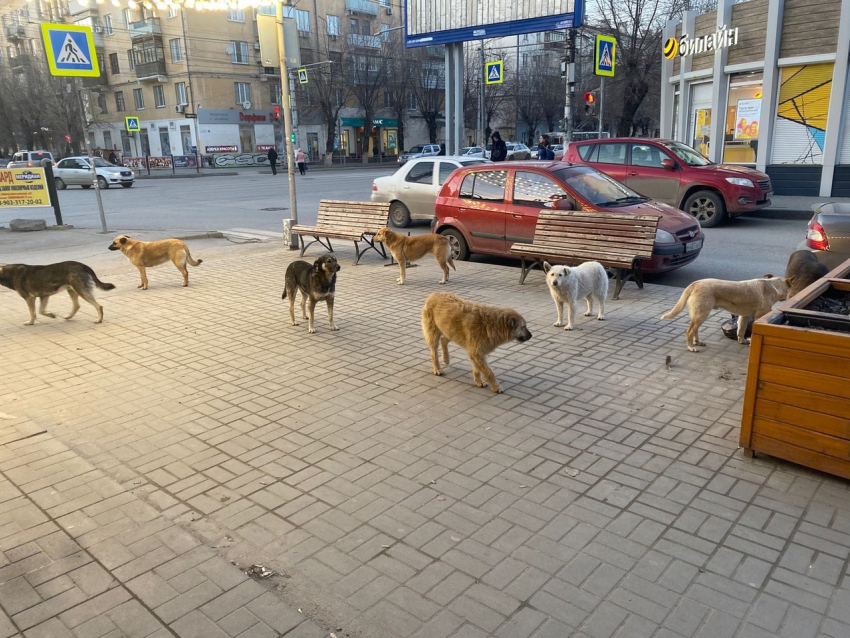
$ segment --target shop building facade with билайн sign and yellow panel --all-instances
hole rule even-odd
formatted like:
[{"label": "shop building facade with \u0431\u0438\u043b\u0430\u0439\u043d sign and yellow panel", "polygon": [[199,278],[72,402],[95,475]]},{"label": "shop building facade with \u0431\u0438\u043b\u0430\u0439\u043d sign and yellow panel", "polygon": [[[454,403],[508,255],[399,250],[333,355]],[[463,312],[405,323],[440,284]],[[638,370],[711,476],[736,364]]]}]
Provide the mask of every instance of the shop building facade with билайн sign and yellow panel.
[{"label": "shop building facade with \u0431\u0438\u043b\u0430\u0439\u043d sign and yellow panel", "polygon": [[850,197],[850,0],[720,0],[667,23],[661,135],[777,195]]}]

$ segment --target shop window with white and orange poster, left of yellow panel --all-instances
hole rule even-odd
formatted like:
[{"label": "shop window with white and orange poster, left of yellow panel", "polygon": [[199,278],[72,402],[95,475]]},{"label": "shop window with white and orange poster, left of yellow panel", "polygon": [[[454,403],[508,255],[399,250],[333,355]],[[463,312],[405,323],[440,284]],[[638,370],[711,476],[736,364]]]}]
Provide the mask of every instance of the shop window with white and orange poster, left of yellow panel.
[{"label": "shop window with white and orange poster, left of yellow panel", "polygon": [[729,78],[729,99],[723,134],[723,161],[755,164],[761,120],[762,74],[739,73]]}]

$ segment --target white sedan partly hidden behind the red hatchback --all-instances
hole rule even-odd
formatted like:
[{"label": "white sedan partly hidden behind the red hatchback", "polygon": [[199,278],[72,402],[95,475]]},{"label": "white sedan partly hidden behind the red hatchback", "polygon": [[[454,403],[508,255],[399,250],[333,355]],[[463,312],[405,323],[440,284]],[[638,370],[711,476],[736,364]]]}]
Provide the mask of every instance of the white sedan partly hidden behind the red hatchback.
[{"label": "white sedan partly hidden behind the red hatchback", "polygon": [[[390,203],[390,223],[405,228],[413,219],[433,219],[434,202],[455,169],[487,162],[482,157],[423,157],[372,182],[372,201]],[[489,163],[489,162],[488,162]]]}]

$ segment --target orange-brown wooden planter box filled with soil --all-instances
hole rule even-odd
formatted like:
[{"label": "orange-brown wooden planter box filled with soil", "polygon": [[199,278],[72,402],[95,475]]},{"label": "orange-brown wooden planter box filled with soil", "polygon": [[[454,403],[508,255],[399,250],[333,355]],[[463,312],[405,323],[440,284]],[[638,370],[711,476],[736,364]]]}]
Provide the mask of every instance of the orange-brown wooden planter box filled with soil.
[{"label": "orange-brown wooden planter box filled with soil", "polygon": [[741,440],[850,478],[850,316],[806,310],[850,291],[850,260],[753,324]]}]

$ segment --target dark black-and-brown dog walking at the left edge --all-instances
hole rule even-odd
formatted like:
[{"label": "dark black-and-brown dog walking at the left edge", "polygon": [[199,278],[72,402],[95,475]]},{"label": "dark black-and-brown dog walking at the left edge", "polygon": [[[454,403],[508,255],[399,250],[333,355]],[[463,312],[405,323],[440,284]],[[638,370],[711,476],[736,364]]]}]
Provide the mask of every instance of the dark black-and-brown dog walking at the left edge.
[{"label": "dark black-and-brown dog walking at the left edge", "polygon": [[65,319],[72,318],[80,309],[79,298],[82,297],[97,309],[97,321],[103,321],[103,306],[97,303],[92,294],[95,286],[101,290],[112,290],[112,284],[105,284],[97,278],[94,271],[78,261],[63,261],[49,266],[27,266],[26,264],[9,264],[0,266],[0,285],[11,288],[27,302],[30,320],[24,325],[35,323],[35,299],[38,297],[38,313],[55,319],[56,315],[47,312],[47,301],[52,295],[67,290],[71,296],[71,312]]}]

